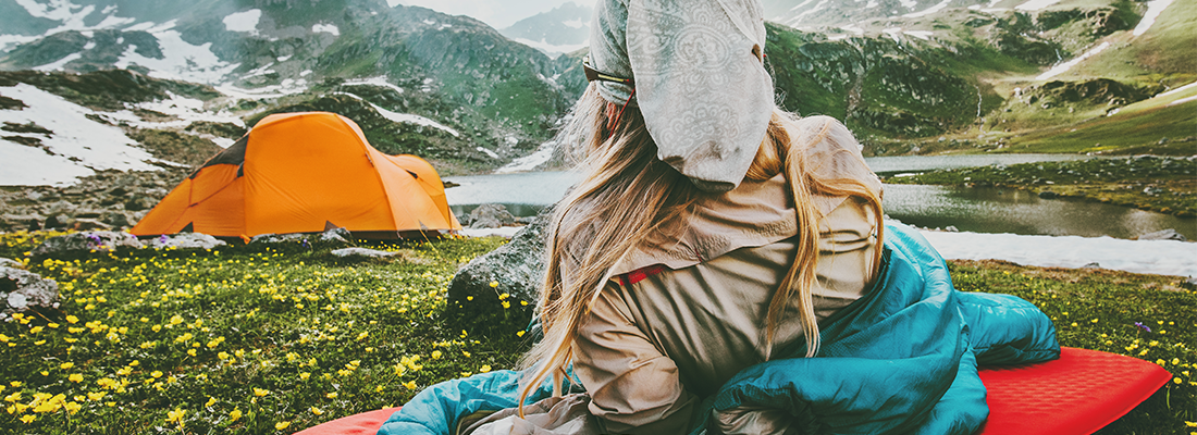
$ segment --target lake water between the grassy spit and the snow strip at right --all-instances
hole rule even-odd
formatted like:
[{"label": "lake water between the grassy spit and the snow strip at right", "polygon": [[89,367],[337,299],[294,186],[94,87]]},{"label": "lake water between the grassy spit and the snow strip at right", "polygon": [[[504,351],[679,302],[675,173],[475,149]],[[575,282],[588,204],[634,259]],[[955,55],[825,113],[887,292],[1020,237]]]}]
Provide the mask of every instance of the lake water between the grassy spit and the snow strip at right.
[{"label": "lake water between the grassy spit and the snow strip at right", "polygon": [[1130,238],[1174,228],[1197,237],[1197,219],[1078,200],[1043,200],[1011,189],[887,184],[886,214],[920,227],[978,233]]}]

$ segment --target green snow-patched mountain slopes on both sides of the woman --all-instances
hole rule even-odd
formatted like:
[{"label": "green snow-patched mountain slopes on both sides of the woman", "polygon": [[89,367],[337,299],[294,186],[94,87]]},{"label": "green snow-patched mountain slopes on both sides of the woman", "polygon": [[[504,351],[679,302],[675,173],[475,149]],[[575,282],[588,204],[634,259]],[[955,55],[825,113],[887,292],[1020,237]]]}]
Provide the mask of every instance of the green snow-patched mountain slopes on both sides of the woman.
[{"label": "green snow-patched mountain slopes on both sides of the woman", "polygon": [[[1190,1],[764,6],[779,103],[844,120],[870,154],[1128,153],[1197,135]],[[192,165],[294,110],[350,116],[443,173],[551,155],[585,87],[589,23],[577,4],[500,32],[384,0],[0,0],[0,161],[23,163],[0,163],[0,184]],[[1136,133],[1092,139],[1111,130]]]}]

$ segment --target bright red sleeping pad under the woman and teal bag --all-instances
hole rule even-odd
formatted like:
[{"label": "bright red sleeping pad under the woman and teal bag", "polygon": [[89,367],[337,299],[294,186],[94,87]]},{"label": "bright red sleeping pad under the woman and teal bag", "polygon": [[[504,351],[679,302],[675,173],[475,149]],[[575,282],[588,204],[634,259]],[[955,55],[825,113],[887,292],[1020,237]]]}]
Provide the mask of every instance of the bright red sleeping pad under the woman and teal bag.
[{"label": "bright red sleeping pad under the woman and teal bag", "polygon": [[[983,435],[1092,434],[1135,409],[1172,375],[1160,366],[1096,350],[1063,348],[1059,360],[986,367]],[[308,428],[299,435],[373,435],[399,408]]]}]

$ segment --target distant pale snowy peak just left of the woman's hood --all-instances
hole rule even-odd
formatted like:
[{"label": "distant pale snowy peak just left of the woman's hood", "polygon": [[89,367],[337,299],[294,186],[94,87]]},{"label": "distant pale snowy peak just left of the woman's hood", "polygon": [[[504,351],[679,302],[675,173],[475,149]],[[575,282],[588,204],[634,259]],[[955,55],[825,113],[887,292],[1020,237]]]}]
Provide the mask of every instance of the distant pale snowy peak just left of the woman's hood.
[{"label": "distant pale snowy peak just left of the woman's hood", "polygon": [[567,2],[524,18],[500,32],[515,42],[555,57],[589,44],[591,12],[590,6]]}]

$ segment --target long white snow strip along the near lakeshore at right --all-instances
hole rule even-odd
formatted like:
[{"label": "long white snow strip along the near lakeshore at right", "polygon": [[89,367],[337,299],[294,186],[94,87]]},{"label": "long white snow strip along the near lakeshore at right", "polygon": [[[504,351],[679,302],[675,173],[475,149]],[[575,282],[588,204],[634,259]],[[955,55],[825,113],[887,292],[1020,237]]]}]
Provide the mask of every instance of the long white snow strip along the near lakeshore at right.
[{"label": "long white snow strip along the near lakeshore at right", "polygon": [[1197,275],[1197,243],[1125,240],[1110,237],[1017,235],[923,231],[923,237],[948,259],[1004,259],[1022,265],[1102,269],[1136,274]]}]

